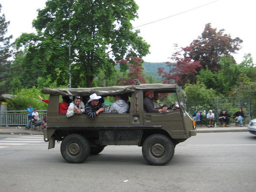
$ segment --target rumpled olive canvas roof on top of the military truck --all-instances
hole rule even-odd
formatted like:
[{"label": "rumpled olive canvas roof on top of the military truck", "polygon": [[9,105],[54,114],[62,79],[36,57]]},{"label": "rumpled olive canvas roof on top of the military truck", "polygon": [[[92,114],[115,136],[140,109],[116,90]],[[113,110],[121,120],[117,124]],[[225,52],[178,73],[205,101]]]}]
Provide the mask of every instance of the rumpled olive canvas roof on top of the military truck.
[{"label": "rumpled olive canvas roof on top of the military truck", "polygon": [[93,93],[97,95],[114,95],[114,94],[125,94],[133,93],[136,89],[141,90],[172,90],[176,91],[178,86],[176,84],[139,84],[139,85],[125,85],[125,86],[112,86],[112,87],[96,87],[96,88],[60,88],[60,89],[51,89],[43,88],[43,94],[52,94],[52,95],[64,95],[64,96],[87,96]]}]

